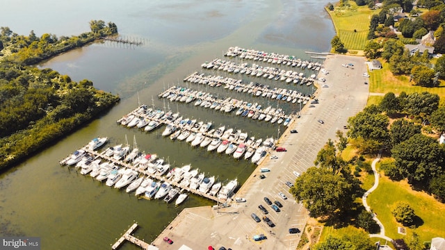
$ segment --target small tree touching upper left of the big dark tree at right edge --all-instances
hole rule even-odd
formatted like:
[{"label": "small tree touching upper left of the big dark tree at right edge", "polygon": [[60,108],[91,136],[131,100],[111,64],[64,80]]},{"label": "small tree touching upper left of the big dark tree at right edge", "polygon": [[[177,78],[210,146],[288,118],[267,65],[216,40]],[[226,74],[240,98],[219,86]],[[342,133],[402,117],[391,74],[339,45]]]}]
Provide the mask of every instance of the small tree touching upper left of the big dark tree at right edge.
[{"label": "small tree touching upper left of the big dark tree at right edge", "polygon": [[421,126],[406,119],[397,119],[391,124],[390,135],[392,147],[421,133]]}]

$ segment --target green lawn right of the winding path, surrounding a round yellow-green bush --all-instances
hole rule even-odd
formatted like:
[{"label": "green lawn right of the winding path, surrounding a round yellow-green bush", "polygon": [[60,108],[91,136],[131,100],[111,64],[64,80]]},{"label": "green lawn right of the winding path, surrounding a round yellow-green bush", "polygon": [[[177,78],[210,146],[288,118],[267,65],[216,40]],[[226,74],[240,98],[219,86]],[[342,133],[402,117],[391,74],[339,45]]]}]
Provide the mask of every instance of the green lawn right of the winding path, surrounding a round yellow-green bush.
[{"label": "green lawn right of the winding path, surrounding a round yellow-green bush", "polygon": [[[392,206],[396,201],[407,201],[420,217],[416,233],[421,242],[431,238],[445,235],[445,204],[439,203],[425,192],[414,191],[406,181],[391,181],[386,176],[380,178],[378,188],[369,194],[368,204],[385,226],[386,235],[392,239],[403,238],[397,233],[397,226],[401,226],[391,214]],[[412,229],[405,227],[407,235]]]}]

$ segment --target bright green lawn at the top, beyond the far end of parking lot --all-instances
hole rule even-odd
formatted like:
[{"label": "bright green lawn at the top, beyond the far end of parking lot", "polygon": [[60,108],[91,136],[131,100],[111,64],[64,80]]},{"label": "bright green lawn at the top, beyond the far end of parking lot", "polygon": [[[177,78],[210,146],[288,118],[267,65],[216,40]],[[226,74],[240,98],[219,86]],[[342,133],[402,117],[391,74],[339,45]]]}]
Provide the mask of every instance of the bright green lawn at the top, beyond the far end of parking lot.
[{"label": "bright green lawn at the top, beyond the far end of parking lot", "polygon": [[327,12],[332,18],[335,31],[346,49],[363,50],[366,46],[366,36],[369,32],[369,22],[373,14],[380,10],[370,10],[368,6],[357,6],[354,1],[348,1],[350,6],[335,7]]}]

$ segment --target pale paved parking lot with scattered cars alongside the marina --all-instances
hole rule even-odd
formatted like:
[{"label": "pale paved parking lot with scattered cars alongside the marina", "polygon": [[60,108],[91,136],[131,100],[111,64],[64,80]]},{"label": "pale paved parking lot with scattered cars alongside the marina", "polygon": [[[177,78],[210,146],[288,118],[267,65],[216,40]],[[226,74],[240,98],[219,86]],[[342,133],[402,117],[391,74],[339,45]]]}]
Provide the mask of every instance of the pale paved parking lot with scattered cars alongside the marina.
[{"label": "pale paved parking lot with scattered cars alongside the marina", "polygon": [[[353,63],[354,67],[342,67],[344,63]],[[175,222],[170,224],[154,244],[161,249],[179,249],[182,244],[191,249],[206,249],[212,245],[216,249],[221,246],[232,249],[296,249],[300,233],[290,234],[289,228],[304,228],[307,222],[307,211],[292,199],[286,181],[295,181],[293,172],[305,172],[314,165],[316,154],[331,138],[335,140],[336,131],[343,130],[348,117],[361,111],[366,106],[369,96],[364,58],[356,56],[328,56],[325,69],[330,73],[320,77],[326,78],[327,88],[318,88],[316,98],[320,103],[302,110],[300,119],[289,126],[279,140],[279,146],[286,147],[287,152],[273,152],[277,159],[267,158],[264,163],[248,178],[245,185],[238,191],[236,197],[244,197],[246,203],[233,203],[230,208],[212,210],[211,208],[193,208],[184,210]],[[323,85],[321,84],[321,85]],[[318,123],[323,120],[323,124]],[[296,129],[298,133],[289,133]],[[265,179],[259,179],[258,169],[268,167],[271,172]],[[278,192],[283,192],[289,199],[282,199]],[[264,201],[280,201],[284,207],[276,213]],[[266,207],[267,215],[275,227],[270,228],[265,222],[254,222],[250,217],[256,213],[262,217],[258,206]],[[263,233],[268,238],[254,242],[253,235]],[[162,238],[168,236],[175,244],[167,245]]]}]

